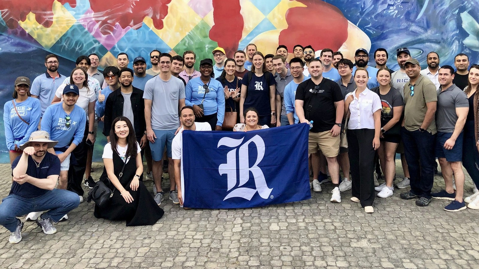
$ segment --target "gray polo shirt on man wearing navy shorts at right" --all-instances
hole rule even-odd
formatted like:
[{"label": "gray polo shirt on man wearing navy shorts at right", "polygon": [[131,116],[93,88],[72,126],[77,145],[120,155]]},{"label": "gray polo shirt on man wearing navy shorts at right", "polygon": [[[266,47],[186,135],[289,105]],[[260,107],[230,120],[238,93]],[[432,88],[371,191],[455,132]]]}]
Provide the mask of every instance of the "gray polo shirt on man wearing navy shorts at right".
[{"label": "gray polo shirt on man wearing navy shorts at right", "polygon": [[438,132],[453,133],[457,122],[456,108],[469,107],[468,96],[456,84],[437,90],[436,126]]}]

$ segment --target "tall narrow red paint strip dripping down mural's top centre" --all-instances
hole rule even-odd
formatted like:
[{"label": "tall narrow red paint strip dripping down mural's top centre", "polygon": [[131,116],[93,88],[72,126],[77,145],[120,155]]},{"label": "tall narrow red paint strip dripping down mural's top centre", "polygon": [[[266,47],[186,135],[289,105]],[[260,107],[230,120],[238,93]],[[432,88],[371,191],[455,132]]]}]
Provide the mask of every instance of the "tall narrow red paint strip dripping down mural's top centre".
[{"label": "tall narrow red paint strip dripping down mural's top centre", "polygon": [[213,0],[215,25],[211,27],[209,37],[225,49],[227,57],[233,57],[243,35],[244,21],[240,10],[239,0]]}]

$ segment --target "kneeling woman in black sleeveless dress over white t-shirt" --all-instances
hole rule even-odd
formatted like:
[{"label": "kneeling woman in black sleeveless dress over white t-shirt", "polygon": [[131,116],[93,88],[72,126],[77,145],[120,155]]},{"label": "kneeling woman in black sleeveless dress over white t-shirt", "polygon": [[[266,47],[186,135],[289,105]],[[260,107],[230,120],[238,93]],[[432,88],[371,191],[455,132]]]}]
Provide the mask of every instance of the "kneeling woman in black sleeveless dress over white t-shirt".
[{"label": "kneeling woman in black sleeveless dress over white t-shirt", "polygon": [[110,143],[103,149],[105,168],[100,177],[113,196],[102,208],[95,205],[95,217],[125,220],[126,226],[140,226],[153,225],[163,216],[164,211],[143,184],[140,151],[130,120],[123,116],[115,118]]}]

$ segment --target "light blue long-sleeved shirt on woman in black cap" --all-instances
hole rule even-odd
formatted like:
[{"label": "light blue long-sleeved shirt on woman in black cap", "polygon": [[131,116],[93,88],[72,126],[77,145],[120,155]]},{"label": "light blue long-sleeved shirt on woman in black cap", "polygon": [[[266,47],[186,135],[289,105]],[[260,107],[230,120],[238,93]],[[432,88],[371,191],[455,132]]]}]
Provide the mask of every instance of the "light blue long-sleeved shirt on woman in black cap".
[{"label": "light blue long-sleeved shirt on woman in black cap", "polygon": [[216,125],[222,126],[225,118],[224,88],[221,82],[210,78],[208,85],[209,92],[205,94],[203,85],[205,85],[205,83],[203,83],[201,78],[190,79],[185,88],[185,103],[187,106],[199,105],[203,100],[203,96],[205,96],[205,101],[203,101],[203,112],[205,116],[218,113]]}]

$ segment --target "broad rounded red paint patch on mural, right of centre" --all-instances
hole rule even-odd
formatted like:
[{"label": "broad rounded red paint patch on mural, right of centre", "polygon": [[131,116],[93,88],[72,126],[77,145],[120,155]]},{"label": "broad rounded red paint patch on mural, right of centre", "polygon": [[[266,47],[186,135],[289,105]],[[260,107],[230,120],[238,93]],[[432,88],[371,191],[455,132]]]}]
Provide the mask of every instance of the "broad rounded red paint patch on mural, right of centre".
[{"label": "broad rounded red paint patch on mural, right of centre", "polygon": [[[307,7],[286,12],[288,28],[279,34],[279,44],[312,45],[315,50],[338,50],[348,38],[348,20],[335,6],[317,0],[297,0]],[[291,52],[291,51],[290,51]]]}]

